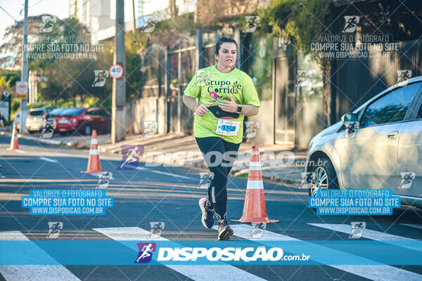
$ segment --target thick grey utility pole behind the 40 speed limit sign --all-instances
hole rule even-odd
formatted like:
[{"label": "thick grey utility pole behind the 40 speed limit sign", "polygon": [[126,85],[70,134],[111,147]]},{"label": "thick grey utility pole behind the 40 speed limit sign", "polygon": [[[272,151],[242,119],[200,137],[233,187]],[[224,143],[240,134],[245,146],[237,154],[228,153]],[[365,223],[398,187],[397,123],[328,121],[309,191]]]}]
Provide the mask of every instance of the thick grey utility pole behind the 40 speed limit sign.
[{"label": "thick grey utility pole behind the 40 speed limit sign", "polygon": [[124,128],[126,124],[126,63],[124,60],[124,0],[116,1],[116,24],[115,24],[115,53],[114,65],[118,63],[123,67],[123,76],[113,79],[113,100],[111,110],[111,143],[124,140]]}]

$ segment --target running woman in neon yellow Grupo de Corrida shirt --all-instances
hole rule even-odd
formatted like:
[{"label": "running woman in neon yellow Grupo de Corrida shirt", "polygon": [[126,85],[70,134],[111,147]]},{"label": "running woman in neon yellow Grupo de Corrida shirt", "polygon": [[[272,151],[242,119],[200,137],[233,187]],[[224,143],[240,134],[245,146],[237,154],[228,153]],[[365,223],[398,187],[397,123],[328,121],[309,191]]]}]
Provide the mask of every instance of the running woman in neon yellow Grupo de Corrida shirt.
[{"label": "running woman in neon yellow Grupo de Corrida shirt", "polygon": [[213,175],[207,197],[199,200],[201,219],[205,228],[212,228],[215,213],[218,240],[233,235],[227,222],[226,185],[243,138],[243,118],[257,115],[260,107],[252,79],[234,67],[236,50],[234,39],[218,39],[217,65],[198,70],[183,97],[186,107],[195,112],[193,132]]}]

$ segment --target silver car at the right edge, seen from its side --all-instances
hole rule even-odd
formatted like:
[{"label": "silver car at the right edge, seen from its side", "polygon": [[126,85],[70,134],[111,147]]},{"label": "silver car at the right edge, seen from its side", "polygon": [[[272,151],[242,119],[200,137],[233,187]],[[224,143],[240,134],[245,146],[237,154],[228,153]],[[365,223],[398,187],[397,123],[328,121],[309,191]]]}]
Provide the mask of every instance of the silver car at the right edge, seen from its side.
[{"label": "silver car at the right edge, seen from its side", "polygon": [[319,188],[383,188],[402,204],[422,207],[421,86],[422,77],[391,86],[312,138],[309,195]]}]

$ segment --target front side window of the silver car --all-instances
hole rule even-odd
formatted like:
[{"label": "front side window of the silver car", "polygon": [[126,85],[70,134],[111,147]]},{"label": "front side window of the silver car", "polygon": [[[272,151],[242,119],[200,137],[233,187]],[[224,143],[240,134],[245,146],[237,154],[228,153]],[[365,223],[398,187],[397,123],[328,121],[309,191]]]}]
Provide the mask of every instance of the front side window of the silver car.
[{"label": "front side window of the silver car", "polygon": [[410,84],[371,103],[362,115],[361,127],[402,121],[420,86],[421,83]]}]

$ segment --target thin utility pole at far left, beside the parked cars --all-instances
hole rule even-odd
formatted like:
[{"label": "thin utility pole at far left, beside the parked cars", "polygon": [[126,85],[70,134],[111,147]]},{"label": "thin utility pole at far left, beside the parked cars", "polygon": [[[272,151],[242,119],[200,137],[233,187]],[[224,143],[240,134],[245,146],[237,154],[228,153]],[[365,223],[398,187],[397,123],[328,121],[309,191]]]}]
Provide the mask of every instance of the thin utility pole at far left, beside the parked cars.
[{"label": "thin utility pole at far left, beside the parked cars", "polygon": [[[27,37],[28,37],[28,0],[25,0],[25,14],[23,19],[23,58],[22,72],[20,74],[23,82],[28,82],[28,57],[27,57]],[[25,121],[27,118],[27,99],[20,99],[20,132],[26,131]]]}]

